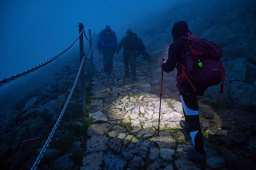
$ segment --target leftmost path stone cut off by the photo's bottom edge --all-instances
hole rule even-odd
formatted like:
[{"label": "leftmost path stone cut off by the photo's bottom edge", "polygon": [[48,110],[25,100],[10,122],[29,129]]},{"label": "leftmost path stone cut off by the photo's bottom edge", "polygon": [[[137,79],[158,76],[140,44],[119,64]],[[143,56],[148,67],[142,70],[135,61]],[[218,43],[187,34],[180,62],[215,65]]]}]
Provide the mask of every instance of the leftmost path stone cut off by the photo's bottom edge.
[{"label": "leftmost path stone cut off by the photo's bottom edge", "polygon": [[104,152],[94,152],[86,155],[82,159],[82,165],[80,170],[99,170],[101,169],[101,164],[103,163]]}]

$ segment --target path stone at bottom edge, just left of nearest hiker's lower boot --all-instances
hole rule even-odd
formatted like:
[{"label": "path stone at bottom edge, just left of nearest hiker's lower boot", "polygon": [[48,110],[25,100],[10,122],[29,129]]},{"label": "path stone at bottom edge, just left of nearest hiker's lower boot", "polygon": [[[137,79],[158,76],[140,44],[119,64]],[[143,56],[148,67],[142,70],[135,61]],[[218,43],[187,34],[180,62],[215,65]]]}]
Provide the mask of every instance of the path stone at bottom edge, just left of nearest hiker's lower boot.
[{"label": "path stone at bottom edge, just left of nearest hiker's lower boot", "polygon": [[198,166],[196,166],[193,161],[191,161],[187,154],[182,154],[180,158],[175,160],[175,165],[178,170],[201,170]]}]

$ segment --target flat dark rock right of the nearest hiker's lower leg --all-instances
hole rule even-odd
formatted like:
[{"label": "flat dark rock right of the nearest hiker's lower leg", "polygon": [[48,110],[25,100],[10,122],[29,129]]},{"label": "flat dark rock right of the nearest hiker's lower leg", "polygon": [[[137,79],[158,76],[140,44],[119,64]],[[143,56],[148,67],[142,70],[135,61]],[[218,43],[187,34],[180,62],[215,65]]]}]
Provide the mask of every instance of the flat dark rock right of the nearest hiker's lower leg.
[{"label": "flat dark rock right of the nearest hiker's lower leg", "polygon": [[246,137],[241,133],[228,134],[223,137],[217,137],[216,141],[225,145],[238,145],[243,143]]}]

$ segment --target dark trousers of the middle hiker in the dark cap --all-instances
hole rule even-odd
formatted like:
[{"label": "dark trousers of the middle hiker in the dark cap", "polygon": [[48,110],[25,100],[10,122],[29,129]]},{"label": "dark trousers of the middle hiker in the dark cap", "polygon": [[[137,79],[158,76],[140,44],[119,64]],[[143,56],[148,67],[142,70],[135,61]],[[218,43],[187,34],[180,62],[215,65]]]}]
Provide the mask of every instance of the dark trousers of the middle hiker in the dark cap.
[{"label": "dark trousers of the middle hiker in the dark cap", "polygon": [[132,77],[136,77],[136,57],[137,57],[137,51],[135,50],[129,50],[123,52],[124,57],[124,74],[129,75],[129,65],[131,67],[131,74]]}]

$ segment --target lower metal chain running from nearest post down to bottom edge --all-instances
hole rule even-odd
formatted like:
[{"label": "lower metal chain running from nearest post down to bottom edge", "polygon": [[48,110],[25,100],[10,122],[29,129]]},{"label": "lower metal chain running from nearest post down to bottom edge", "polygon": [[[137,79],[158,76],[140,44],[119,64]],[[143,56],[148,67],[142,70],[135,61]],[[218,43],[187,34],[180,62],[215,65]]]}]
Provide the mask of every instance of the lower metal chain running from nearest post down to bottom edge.
[{"label": "lower metal chain running from nearest post down to bottom edge", "polygon": [[42,148],[42,150],[41,150],[41,152],[39,153],[39,155],[38,155],[38,157],[37,157],[37,159],[36,159],[34,165],[32,166],[31,170],[36,170],[37,165],[40,163],[42,157],[44,156],[44,152],[45,152],[46,148],[48,147],[48,145],[50,144],[50,142],[51,142],[51,140],[52,140],[53,134],[55,133],[56,129],[58,128],[58,126],[59,126],[59,124],[60,124],[60,120],[61,120],[61,118],[62,118],[62,116],[63,116],[63,114],[64,114],[64,112],[65,112],[65,110],[66,110],[66,108],[67,108],[67,105],[68,105],[68,103],[69,103],[69,101],[70,101],[70,98],[71,98],[71,96],[72,96],[72,93],[73,93],[73,91],[74,91],[74,89],[75,89],[75,86],[76,86],[76,83],[77,83],[78,77],[79,77],[79,75],[80,75],[80,72],[81,72],[81,69],[82,69],[83,64],[84,64],[84,57],[83,57],[83,60],[82,60],[82,62],[81,62],[81,65],[80,65],[80,67],[79,67],[79,70],[78,70],[78,73],[77,73],[77,76],[76,76],[76,80],[75,80],[74,85],[73,85],[73,87],[72,87],[72,89],[71,89],[71,91],[70,91],[70,94],[69,94],[69,96],[68,96],[68,99],[67,99],[67,101],[66,101],[66,103],[65,103],[65,105],[64,105],[64,107],[63,107],[63,109],[62,109],[62,111],[61,111],[61,113],[60,113],[60,116],[59,116],[57,122],[55,123],[55,125],[54,125],[54,127],[53,127],[53,129],[52,129],[52,131],[51,131],[51,133],[50,133],[50,135],[49,135],[49,137],[47,138],[47,140],[46,140],[46,142],[45,142],[45,144],[44,144],[44,147]]}]

